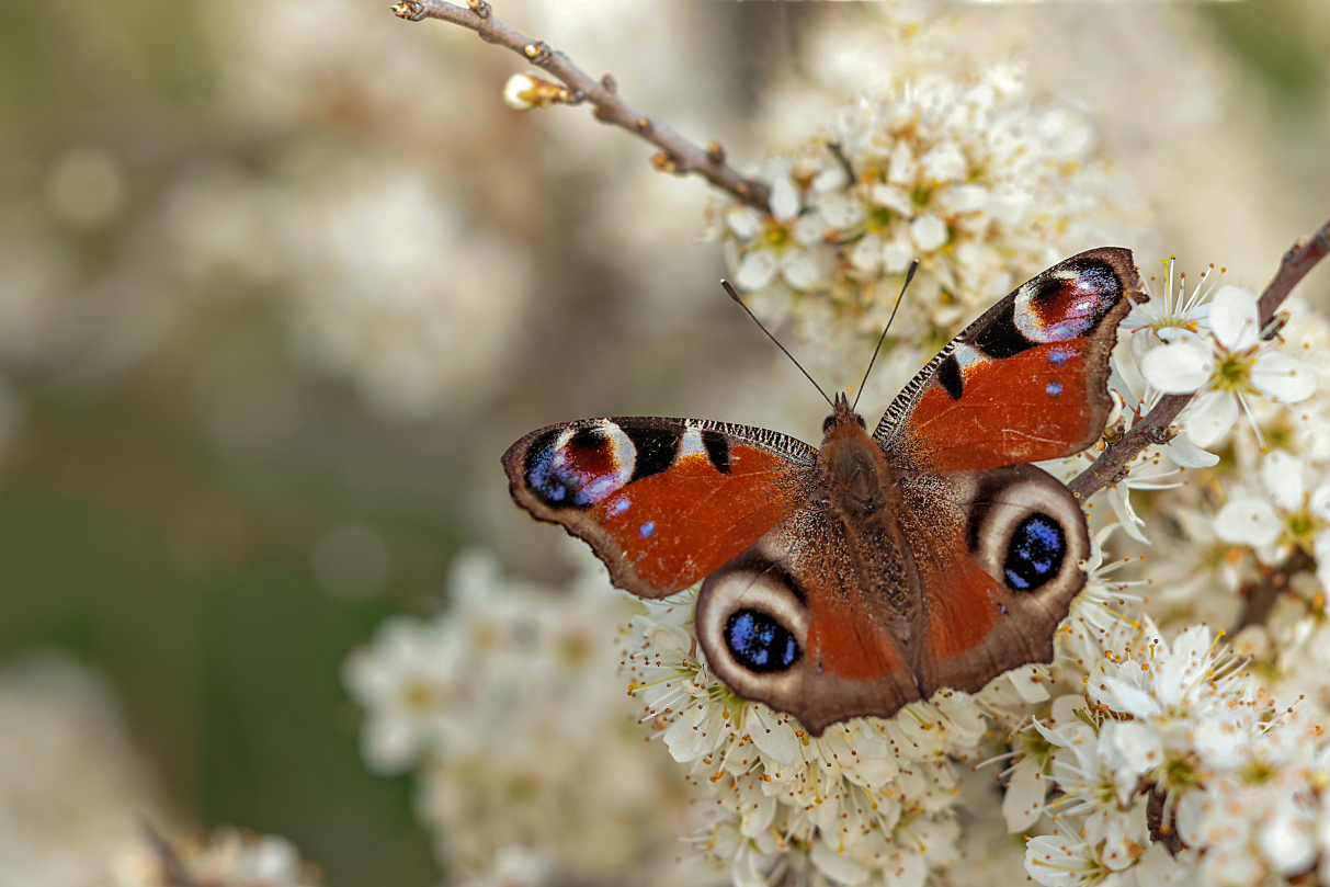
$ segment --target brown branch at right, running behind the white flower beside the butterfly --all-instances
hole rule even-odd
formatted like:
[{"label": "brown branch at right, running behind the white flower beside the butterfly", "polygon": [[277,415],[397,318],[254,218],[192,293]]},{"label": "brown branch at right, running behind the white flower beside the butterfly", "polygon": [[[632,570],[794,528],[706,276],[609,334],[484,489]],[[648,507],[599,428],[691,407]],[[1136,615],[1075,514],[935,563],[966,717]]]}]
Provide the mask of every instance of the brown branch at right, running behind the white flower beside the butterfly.
[{"label": "brown branch at right, running behind the white flower beside the butterfly", "polygon": [[[1261,328],[1265,330],[1266,324],[1274,318],[1274,313],[1278,310],[1283,299],[1287,298],[1289,293],[1293,290],[1298,282],[1307,275],[1317,262],[1323,259],[1326,254],[1330,253],[1330,222],[1326,222],[1321,229],[1311,235],[1311,238],[1305,243],[1295,243],[1287,253],[1283,254],[1283,261],[1279,263],[1279,270],[1266,285],[1265,290],[1261,293],[1261,299],[1257,302],[1261,313]],[[1089,468],[1083,471],[1080,475],[1072,480],[1068,487],[1076,493],[1083,501],[1097,493],[1104,487],[1109,487],[1127,475],[1128,464],[1134,459],[1142,449],[1150,444],[1162,444],[1169,440],[1172,434],[1169,432],[1169,426],[1177,419],[1177,414],[1182,412],[1182,407],[1190,403],[1193,394],[1166,394],[1160,398],[1154,408],[1145,415],[1144,419],[1132,426],[1132,430],[1123,435],[1123,439],[1111,443],[1108,448],[1095,460]]]}]

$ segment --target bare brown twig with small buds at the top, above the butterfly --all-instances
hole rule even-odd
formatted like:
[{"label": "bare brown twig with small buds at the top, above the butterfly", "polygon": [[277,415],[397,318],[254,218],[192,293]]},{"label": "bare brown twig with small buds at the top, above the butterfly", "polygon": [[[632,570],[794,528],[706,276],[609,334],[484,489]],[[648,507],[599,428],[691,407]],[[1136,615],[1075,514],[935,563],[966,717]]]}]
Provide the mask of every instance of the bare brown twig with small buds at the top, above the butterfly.
[{"label": "bare brown twig with small buds at the top, above the butterfly", "polygon": [[629,108],[616,92],[614,78],[605,74],[600,80],[573,64],[564,53],[553,49],[543,40],[535,40],[495,17],[491,5],[484,0],[469,0],[459,7],[444,0],[403,0],[392,7],[402,19],[420,21],[438,19],[450,24],[475,31],[485,43],[495,43],[512,49],[519,56],[561,80],[572,90],[572,104],[588,101],[597,120],[626,129],[661,149],[652,157],[656,169],[685,176],[697,173],[712,185],[734,194],[737,198],[762,211],[767,211],[770,191],[759,181],[745,178],[725,162],[725,150],[712,142],[698,148],[668,124],[654,117],[641,114]]}]

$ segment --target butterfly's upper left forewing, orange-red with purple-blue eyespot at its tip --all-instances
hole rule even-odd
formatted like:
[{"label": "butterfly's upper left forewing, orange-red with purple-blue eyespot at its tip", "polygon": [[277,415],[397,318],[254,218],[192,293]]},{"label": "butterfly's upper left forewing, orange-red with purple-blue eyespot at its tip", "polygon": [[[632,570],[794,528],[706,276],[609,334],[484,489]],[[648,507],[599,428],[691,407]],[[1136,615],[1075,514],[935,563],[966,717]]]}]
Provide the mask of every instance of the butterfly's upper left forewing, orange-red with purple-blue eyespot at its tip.
[{"label": "butterfly's upper left forewing, orange-red with purple-blue eyespot at its tip", "polygon": [[513,500],[585,540],[618,588],[665,597],[757,541],[807,499],[817,449],[696,419],[584,419],[503,456]]}]

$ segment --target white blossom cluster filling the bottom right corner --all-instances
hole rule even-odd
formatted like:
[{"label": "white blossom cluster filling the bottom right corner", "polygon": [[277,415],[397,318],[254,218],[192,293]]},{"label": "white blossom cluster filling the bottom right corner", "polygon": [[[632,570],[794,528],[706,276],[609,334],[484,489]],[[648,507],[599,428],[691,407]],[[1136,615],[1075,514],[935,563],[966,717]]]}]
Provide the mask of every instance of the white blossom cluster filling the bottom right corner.
[{"label": "white blossom cluster filling the bottom right corner", "polygon": [[1323,727],[1279,707],[1204,626],[1169,642],[1146,620],[1036,729],[1056,785],[1056,830],[1025,855],[1041,884],[1254,886],[1330,848]]}]

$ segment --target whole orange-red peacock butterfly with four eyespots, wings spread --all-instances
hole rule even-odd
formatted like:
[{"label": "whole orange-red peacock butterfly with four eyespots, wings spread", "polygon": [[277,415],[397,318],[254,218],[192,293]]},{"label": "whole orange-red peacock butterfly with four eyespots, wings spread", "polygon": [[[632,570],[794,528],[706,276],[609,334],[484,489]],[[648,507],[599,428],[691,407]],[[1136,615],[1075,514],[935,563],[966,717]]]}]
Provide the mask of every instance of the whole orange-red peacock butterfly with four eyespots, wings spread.
[{"label": "whole orange-red peacock butterfly with four eyespots, wings spread", "polygon": [[724,422],[583,419],[515,443],[509,491],[618,588],[701,581],[709,666],[813,735],[976,692],[1052,661],[1085,584],[1080,503],[1028,463],[1100,439],[1117,326],[1144,299],[1129,250],[1089,250],[971,323],[871,435],[845,394],[819,448]]}]

